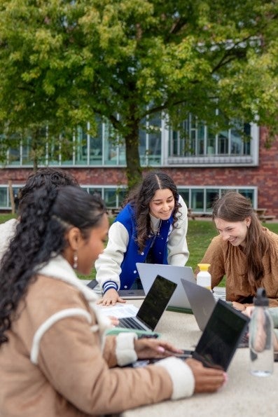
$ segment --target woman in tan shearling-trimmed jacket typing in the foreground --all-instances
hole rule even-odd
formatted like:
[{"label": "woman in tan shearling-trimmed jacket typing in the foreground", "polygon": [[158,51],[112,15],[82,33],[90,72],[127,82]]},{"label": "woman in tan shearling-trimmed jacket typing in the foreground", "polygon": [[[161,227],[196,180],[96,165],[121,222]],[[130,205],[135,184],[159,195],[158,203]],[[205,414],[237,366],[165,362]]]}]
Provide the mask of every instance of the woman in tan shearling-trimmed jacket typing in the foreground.
[{"label": "woman in tan shearling-trimmed jacket typing in the foreground", "polygon": [[[165,358],[179,352],[170,343],[105,336],[109,319],[75,273],[90,273],[104,248],[102,200],[76,186],[41,188],[20,216],[0,271],[1,416],[100,416],[223,385],[223,371]],[[120,367],[138,357],[164,359]]]}]

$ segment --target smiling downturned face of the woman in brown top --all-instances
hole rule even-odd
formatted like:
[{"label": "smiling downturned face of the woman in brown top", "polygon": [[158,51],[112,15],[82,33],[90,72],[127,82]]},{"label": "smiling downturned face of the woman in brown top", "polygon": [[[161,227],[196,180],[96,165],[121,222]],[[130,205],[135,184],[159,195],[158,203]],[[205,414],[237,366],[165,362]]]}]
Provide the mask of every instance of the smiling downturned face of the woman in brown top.
[{"label": "smiling downturned face of the woman in brown top", "polygon": [[216,217],[216,228],[223,240],[228,240],[232,246],[246,245],[246,235],[251,223],[251,218],[246,217],[243,221],[225,221]]}]

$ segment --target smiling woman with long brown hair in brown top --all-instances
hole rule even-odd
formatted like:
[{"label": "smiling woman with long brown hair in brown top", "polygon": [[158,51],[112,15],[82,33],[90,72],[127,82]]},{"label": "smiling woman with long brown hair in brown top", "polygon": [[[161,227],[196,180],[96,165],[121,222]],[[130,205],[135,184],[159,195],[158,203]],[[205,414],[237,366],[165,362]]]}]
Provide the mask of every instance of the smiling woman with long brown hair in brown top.
[{"label": "smiling woman with long brown hair in brown top", "polygon": [[265,288],[270,306],[278,306],[278,235],[260,223],[251,201],[235,191],[214,202],[212,217],[219,235],[201,261],[211,264],[212,287],[226,275],[226,299],[237,309],[252,305],[259,287]]}]

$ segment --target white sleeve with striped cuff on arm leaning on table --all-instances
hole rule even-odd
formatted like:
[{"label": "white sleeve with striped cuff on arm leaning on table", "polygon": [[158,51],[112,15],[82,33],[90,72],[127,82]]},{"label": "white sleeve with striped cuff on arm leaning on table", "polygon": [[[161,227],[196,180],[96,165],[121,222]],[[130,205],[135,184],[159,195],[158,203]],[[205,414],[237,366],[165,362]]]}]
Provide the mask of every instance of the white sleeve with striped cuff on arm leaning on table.
[{"label": "white sleeve with striped cuff on arm leaning on table", "polygon": [[95,261],[96,280],[104,292],[109,288],[120,288],[120,273],[123,257],[127,251],[129,236],[127,229],[119,221],[109,228],[108,242],[102,254]]}]

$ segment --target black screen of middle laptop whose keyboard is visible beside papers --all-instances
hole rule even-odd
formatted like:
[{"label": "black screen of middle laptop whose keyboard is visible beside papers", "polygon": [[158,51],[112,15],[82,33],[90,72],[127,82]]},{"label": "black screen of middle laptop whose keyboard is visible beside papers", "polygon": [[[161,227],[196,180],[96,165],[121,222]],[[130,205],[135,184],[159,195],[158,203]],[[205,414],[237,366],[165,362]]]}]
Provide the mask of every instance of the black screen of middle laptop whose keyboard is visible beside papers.
[{"label": "black screen of middle laptop whose keyboard is visible beside papers", "polygon": [[150,329],[155,329],[175,289],[175,282],[158,275],[139,308],[137,317]]}]

